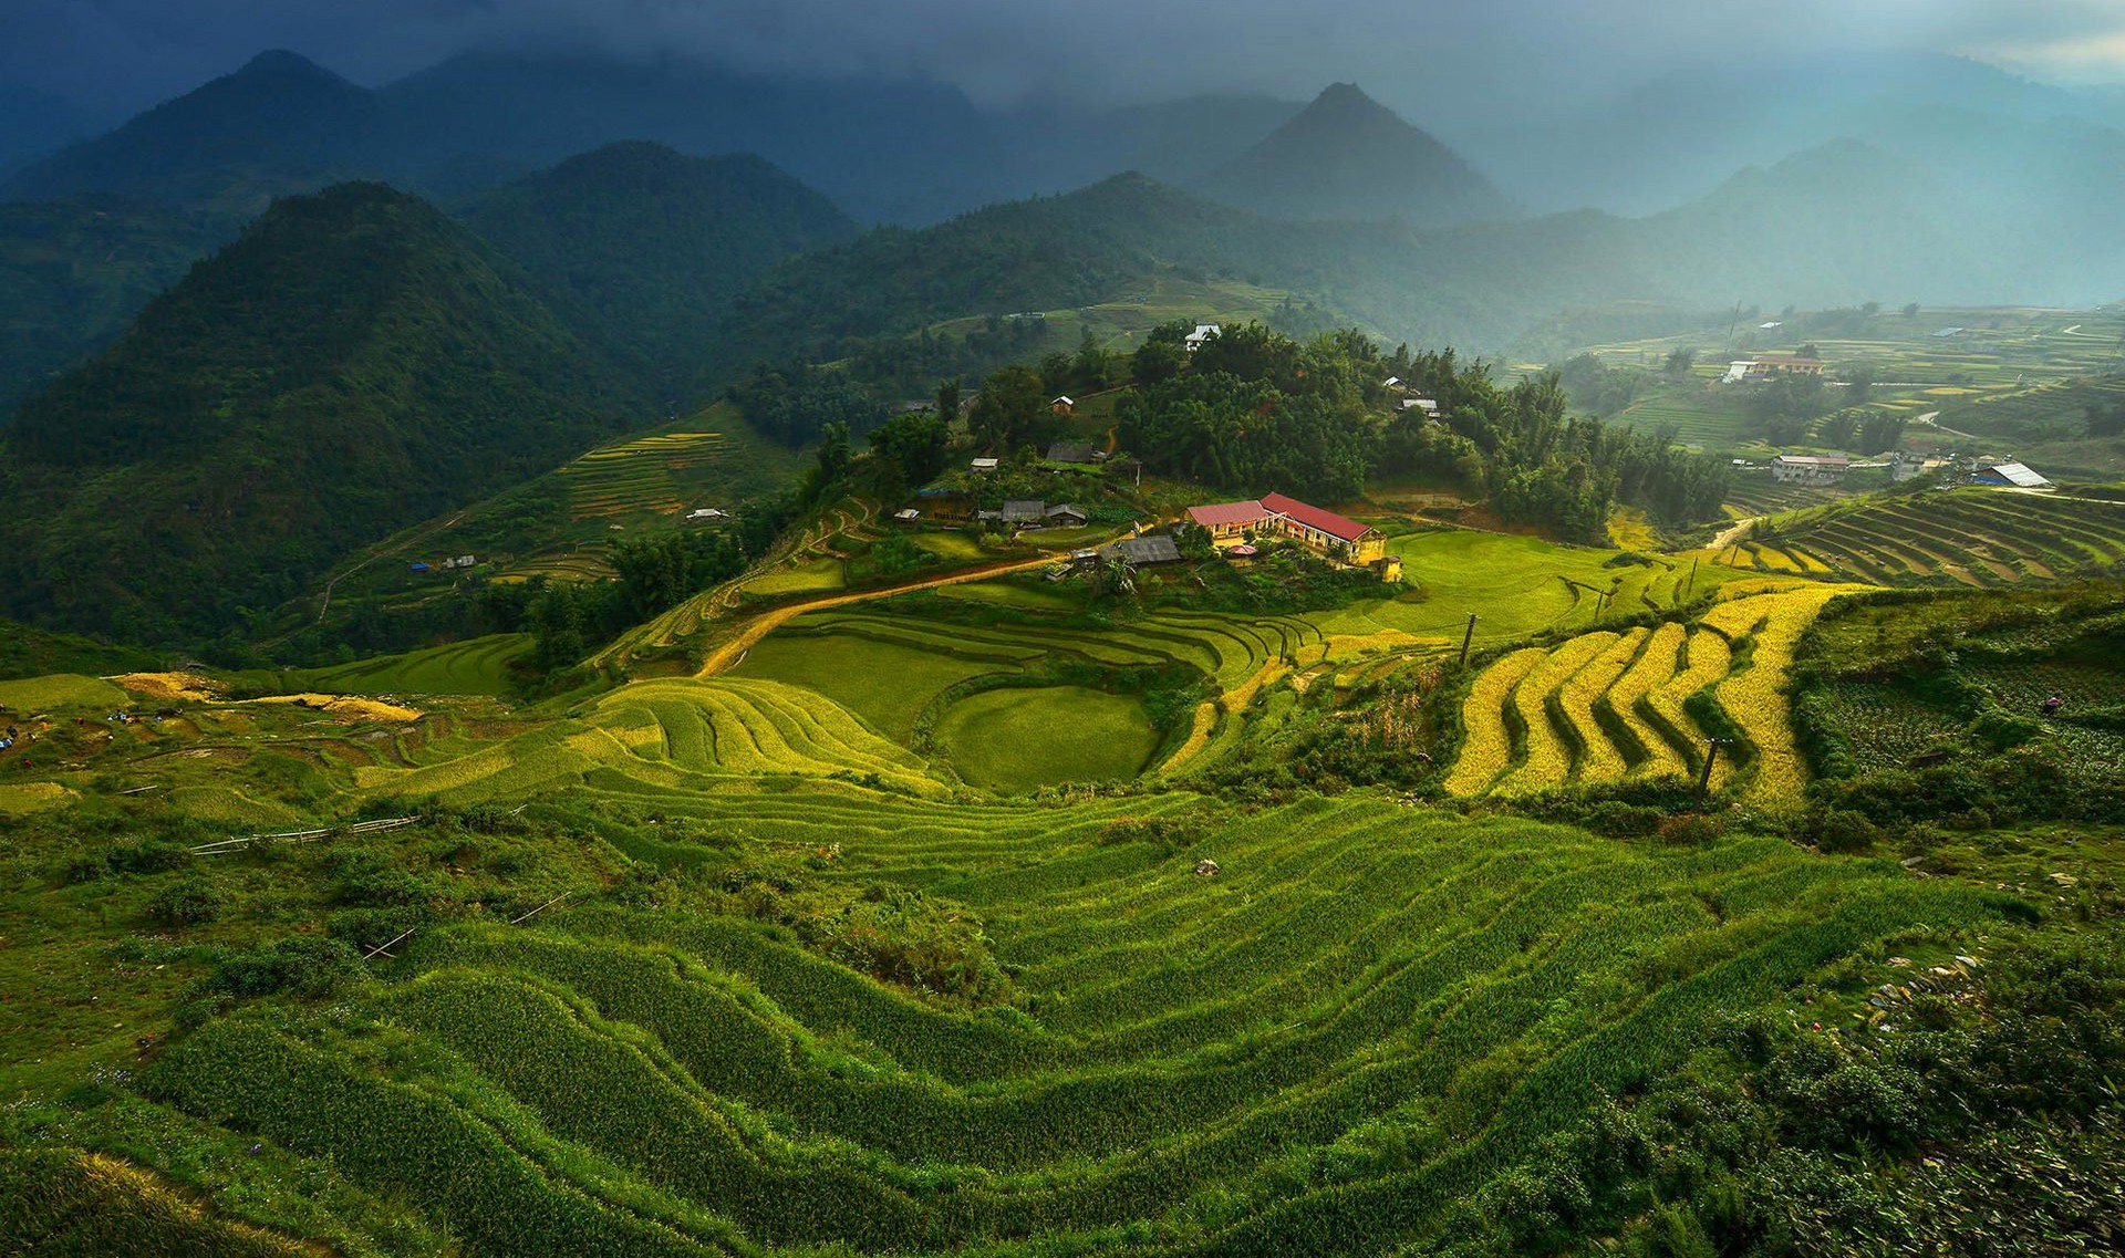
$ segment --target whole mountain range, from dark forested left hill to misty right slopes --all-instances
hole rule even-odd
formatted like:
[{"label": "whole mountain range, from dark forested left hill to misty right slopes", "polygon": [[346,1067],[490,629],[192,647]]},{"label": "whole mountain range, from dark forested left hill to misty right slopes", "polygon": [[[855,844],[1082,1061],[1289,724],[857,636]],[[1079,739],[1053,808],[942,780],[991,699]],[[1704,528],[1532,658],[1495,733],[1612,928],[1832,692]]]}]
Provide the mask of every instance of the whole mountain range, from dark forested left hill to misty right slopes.
[{"label": "whole mountain range, from dark forested left hill to misty right slopes", "polygon": [[[952,321],[1126,308],[1160,278],[1290,293],[1315,325],[1464,353],[1547,346],[1564,312],[1624,302],[1643,319],[2125,287],[2125,134],[2048,117],[2042,96],[1995,113],[1847,100],[1870,138],[1626,219],[1526,215],[1354,85],[1307,106],[1143,106],[1109,132],[1026,108],[1014,125],[1054,147],[990,170],[988,140],[954,130],[990,123],[948,89],[846,81],[727,98],[703,121],[742,85],[572,64],[538,104],[544,70],[472,57],[368,89],[270,53],[21,168],[6,191],[47,200],[0,204],[0,406],[26,397],[0,429],[0,612],[198,642],[756,363],[926,387],[867,372]],[[833,110],[873,113],[808,140]],[[882,162],[878,128],[907,117],[939,144]],[[810,170],[846,144],[871,157],[822,187],[754,153],[606,142],[623,125],[750,136]],[[1031,181],[1037,153],[1060,155],[1041,178],[1116,155],[1167,178],[1109,174],[926,227],[863,230],[835,193],[886,170],[907,178],[873,206],[924,185],[935,212],[973,196],[969,170]],[[1959,176],[1970,164],[2010,176]],[[402,187],[346,181],[393,172]]]}]

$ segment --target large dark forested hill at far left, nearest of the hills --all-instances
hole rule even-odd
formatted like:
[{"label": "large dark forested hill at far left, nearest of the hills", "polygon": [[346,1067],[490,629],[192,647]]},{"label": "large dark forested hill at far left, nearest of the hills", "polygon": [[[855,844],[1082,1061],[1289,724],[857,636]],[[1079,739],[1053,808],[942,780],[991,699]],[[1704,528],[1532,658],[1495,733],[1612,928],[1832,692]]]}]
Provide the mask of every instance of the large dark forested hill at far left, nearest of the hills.
[{"label": "large dark forested hill at far left, nearest of the hills", "polygon": [[212,638],[646,419],[516,272],[380,185],[274,206],[0,440],[26,620]]}]

